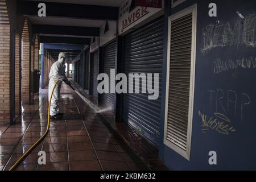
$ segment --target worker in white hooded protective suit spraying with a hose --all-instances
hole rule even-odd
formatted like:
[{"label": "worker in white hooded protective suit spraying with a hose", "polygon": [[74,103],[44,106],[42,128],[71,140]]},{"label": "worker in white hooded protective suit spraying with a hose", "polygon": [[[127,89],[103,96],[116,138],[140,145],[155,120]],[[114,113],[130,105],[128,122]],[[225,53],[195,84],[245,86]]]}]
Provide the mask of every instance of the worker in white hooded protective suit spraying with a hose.
[{"label": "worker in white hooded protective suit spraying with a hose", "polygon": [[57,80],[60,80],[60,81],[56,85],[56,88],[54,89],[52,94],[51,110],[50,110],[51,119],[60,119],[63,116],[63,113],[59,112],[60,111],[60,108],[59,108],[60,88],[63,81],[67,85],[71,84],[67,76],[65,76],[65,53],[64,52],[59,53],[59,59],[52,64],[51,71],[49,72],[49,87],[48,87],[49,99],[51,97],[52,89]]}]

